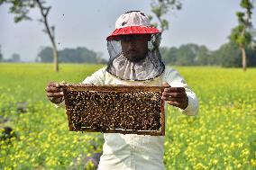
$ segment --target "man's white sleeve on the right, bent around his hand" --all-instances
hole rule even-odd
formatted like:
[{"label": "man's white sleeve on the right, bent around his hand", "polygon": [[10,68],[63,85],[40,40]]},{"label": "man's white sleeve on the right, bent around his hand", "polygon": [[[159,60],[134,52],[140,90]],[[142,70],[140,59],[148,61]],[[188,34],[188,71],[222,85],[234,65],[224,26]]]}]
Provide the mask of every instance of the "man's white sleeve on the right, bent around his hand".
[{"label": "man's white sleeve on the right, bent around his hand", "polygon": [[198,112],[198,100],[197,95],[190,89],[185,82],[184,78],[179,75],[178,71],[173,68],[166,68],[164,81],[166,81],[172,87],[184,87],[186,90],[188,105],[185,110],[179,109],[180,112],[194,116]]}]

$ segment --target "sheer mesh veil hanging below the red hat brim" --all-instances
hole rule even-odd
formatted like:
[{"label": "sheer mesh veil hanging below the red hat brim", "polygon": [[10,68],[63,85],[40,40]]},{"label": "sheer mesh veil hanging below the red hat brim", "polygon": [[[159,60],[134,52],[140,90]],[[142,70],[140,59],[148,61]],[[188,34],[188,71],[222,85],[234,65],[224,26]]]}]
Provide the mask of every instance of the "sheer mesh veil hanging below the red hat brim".
[{"label": "sheer mesh veil hanging below the red hat brim", "polygon": [[133,62],[123,56],[120,40],[108,40],[109,61],[106,71],[123,80],[143,81],[160,76],[165,65],[160,56],[160,33],[151,34],[146,58]]}]

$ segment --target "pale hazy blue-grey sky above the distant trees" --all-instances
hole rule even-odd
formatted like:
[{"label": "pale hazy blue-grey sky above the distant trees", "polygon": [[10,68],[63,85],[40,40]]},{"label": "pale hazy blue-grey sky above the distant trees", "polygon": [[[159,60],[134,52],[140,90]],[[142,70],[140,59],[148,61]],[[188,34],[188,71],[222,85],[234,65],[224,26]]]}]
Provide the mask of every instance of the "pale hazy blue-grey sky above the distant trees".
[{"label": "pale hazy blue-grey sky above the distant trees", "polygon": [[[50,25],[55,26],[58,49],[87,47],[101,51],[108,58],[105,38],[114,31],[114,22],[127,11],[151,13],[150,0],[48,0],[51,5]],[[179,47],[197,43],[218,49],[228,41],[237,25],[235,13],[242,11],[240,0],[181,0],[180,11],[168,13],[169,30],[162,34],[161,46]],[[254,3],[254,6],[256,4]],[[42,47],[51,46],[42,30],[44,25],[38,9],[30,12],[32,21],[14,23],[9,6],[0,6],[0,45],[4,58],[18,53],[23,61],[34,61]],[[252,22],[256,26],[256,9]]]}]

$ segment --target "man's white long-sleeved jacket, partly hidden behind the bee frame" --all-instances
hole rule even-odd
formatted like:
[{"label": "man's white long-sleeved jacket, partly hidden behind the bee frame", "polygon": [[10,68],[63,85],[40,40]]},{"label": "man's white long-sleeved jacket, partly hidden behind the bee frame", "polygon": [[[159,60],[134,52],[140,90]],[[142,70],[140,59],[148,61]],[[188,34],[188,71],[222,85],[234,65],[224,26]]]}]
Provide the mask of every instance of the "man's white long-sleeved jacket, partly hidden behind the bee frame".
[{"label": "man's white long-sleeved jacket, partly hidden behind the bee frame", "polygon": [[[83,84],[94,85],[162,85],[167,82],[172,87],[185,87],[188,97],[188,106],[185,110],[179,109],[187,115],[196,115],[198,112],[197,96],[185,83],[182,76],[173,68],[167,67],[165,72],[151,81],[126,81],[112,76],[105,71],[105,67],[88,76]],[[166,108],[167,104],[165,104]],[[167,115],[167,114],[166,114]],[[100,158],[98,169],[165,169],[163,164],[164,137],[143,136],[135,134],[105,133],[103,155]]]}]

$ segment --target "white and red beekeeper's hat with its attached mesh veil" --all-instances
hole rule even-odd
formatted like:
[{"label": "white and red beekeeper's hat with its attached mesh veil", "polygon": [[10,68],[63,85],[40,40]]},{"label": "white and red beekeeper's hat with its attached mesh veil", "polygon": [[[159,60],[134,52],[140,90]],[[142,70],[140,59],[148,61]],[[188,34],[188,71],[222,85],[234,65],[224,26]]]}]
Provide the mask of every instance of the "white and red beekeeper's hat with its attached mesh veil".
[{"label": "white and red beekeeper's hat with its attached mesh veil", "polygon": [[[106,38],[110,56],[106,71],[123,80],[133,81],[160,76],[165,69],[160,57],[160,35],[158,29],[151,27],[149,18],[143,12],[123,13],[115,22],[113,33]],[[145,53],[140,58],[128,58],[122,48],[123,42],[137,40],[140,43],[141,39],[147,39]],[[136,56],[136,51],[132,53]]]}]

